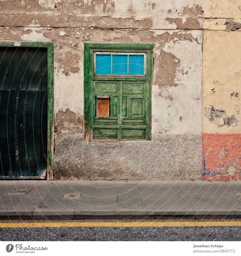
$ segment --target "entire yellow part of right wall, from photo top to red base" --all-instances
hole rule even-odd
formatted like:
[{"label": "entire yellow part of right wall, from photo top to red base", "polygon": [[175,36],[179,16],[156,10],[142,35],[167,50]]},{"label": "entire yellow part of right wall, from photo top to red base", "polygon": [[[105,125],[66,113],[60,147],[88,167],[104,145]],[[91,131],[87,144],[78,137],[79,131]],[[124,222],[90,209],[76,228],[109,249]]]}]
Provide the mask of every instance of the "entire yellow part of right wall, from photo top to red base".
[{"label": "entire yellow part of right wall, from photo top to red base", "polygon": [[202,132],[240,133],[241,3],[205,0],[203,16]]}]

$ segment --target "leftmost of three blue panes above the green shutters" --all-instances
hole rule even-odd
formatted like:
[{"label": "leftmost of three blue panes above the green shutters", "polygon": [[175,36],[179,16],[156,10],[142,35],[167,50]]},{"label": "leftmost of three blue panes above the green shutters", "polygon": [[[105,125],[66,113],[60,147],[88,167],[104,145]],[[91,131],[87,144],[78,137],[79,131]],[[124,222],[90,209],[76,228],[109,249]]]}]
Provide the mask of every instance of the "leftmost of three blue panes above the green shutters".
[{"label": "leftmost of three blue panes above the green shutters", "polygon": [[95,68],[96,75],[111,75],[111,55],[96,54]]}]

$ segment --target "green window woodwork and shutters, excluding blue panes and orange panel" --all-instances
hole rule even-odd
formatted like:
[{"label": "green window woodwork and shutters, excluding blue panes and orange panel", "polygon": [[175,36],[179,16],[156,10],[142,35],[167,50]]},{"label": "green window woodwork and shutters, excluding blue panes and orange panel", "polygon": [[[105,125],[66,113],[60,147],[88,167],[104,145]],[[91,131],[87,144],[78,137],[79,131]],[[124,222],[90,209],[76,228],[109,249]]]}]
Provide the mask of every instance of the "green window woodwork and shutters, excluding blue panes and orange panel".
[{"label": "green window woodwork and shutters, excluding blue panes and orange panel", "polygon": [[[84,138],[151,139],[151,80],[154,44],[84,44]],[[144,75],[95,75],[96,54],[144,55]],[[109,116],[96,116],[96,99],[109,99]],[[106,100],[105,100],[106,103]],[[108,112],[108,111],[107,111]]]}]

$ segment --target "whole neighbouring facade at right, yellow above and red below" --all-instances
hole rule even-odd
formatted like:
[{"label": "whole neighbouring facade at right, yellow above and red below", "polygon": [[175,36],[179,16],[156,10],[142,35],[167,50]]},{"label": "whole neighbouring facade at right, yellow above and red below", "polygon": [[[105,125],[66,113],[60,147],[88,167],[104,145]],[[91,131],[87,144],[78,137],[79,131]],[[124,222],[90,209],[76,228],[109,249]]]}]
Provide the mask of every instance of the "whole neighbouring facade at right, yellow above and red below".
[{"label": "whole neighbouring facade at right, yellow above and red below", "polygon": [[204,1],[203,179],[239,180],[241,4]]}]

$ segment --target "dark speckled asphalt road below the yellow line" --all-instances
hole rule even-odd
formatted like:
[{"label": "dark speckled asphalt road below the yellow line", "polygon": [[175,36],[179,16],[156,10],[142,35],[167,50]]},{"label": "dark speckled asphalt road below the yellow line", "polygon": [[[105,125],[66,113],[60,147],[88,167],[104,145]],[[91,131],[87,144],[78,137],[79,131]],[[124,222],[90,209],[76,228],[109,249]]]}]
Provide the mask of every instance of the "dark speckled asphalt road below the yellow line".
[{"label": "dark speckled asphalt road below the yellow line", "polygon": [[[128,221],[130,222],[130,220]],[[180,221],[180,220],[177,220],[177,221]],[[190,221],[190,220],[182,220],[182,221]],[[217,221],[220,221],[220,220],[217,220]],[[4,221],[1,221],[1,223],[3,222]],[[8,221],[8,223],[9,222],[14,223],[14,221]],[[131,221],[131,222],[134,222],[134,221]],[[211,227],[185,226],[185,227],[0,228],[0,240],[1,241],[240,241],[241,227],[240,226],[211,226]]]}]

